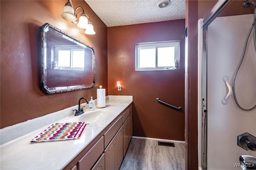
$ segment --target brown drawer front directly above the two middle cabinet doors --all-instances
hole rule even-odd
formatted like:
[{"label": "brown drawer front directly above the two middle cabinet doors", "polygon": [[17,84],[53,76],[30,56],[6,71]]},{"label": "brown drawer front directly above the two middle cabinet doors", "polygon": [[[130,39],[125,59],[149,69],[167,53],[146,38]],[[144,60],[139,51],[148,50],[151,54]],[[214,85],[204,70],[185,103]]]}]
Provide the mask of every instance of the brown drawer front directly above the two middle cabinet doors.
[{"label": "brown drawer front directly above the two middle cabinet doors", "polygon": [[104,148],[106,148],[111,141],[111,139],[115,136],[118,129],[123,124],[123,115],[119,117],[119,119],[108,129],[108,131],[104,134]]}]

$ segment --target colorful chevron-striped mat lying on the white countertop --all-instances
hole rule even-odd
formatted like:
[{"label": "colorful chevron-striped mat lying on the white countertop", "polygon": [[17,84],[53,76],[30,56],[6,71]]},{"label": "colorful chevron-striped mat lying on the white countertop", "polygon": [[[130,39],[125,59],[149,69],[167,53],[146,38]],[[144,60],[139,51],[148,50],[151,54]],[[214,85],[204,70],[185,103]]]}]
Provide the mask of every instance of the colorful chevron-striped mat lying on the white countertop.
[{"label": "colorful chevron-striped mat lying on the white countertop", "polygon": [[51,142],[57,140],[79,139],[88,123],[54,123],[30,142]]}]

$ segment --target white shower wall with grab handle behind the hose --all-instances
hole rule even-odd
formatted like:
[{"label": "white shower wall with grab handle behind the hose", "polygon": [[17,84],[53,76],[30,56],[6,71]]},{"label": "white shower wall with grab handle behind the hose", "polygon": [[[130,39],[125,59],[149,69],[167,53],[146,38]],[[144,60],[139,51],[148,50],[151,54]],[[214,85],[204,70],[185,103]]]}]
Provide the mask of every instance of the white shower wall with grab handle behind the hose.
[{"label": "white shower wall with grab handle behind the hose", "polygon": [[[238,135],[248,132],[256,136],[256,109],[240,110],[233,96],[227,105],[221,103],[227,94],[222,77],[228,76],[232,83],[253,18],[253,14],[218,17],[208,26],[208,170],[241,170],[234,167],[240,155],[256,157],[255,151],[237,146]],[[256,53],[252,36],[253,32],[235,86],[238,102],[246,109],[256,104]]]}]

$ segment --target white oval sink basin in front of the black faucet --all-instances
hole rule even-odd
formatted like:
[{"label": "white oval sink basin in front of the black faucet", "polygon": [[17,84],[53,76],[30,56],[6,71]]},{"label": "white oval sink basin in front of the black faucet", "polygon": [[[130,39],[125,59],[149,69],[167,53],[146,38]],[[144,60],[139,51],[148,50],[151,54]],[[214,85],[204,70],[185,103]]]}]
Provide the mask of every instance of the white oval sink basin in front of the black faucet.
[{"label": "white oval sink basin in front of the black faucet", "polygon": [[84,114],[78,116],[78,121],[84,121],[93,123],[106,118],[111,112],[108,110],[95,110],[95,111],[85,111]]}]

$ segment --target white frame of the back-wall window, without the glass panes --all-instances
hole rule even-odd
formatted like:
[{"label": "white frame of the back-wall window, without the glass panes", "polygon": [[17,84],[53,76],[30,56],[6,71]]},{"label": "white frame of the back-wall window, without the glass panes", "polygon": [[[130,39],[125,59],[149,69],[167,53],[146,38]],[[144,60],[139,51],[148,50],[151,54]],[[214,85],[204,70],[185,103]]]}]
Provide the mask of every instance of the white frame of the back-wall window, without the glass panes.
[{"label": "white frame of the back-wall window, without the glass panes", "polygon": [[[158,47],[174,47],[174,63],[177,59],[180,61],[180,40],[174,40],[174,41],[164,41],[164,42],[149,42],[149,43],[136,43],[136,49],[135,49],[135,71],[154,71],[154,70],[174,70],[175,65],[171,67],[158,67],[157,66],[157,48]],[[146,47],[155,47],[156,48],[156,63],[155,67],[139,67],[139,48],[146,48]]]}]

